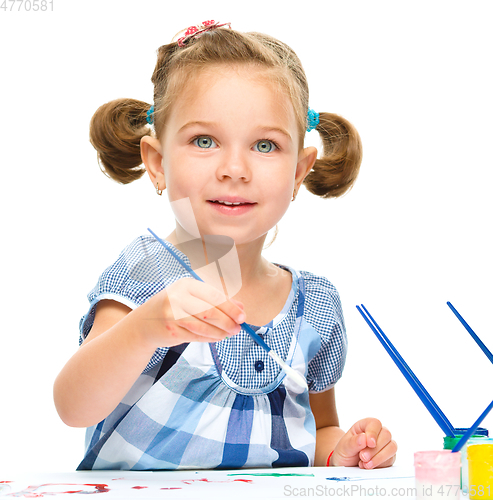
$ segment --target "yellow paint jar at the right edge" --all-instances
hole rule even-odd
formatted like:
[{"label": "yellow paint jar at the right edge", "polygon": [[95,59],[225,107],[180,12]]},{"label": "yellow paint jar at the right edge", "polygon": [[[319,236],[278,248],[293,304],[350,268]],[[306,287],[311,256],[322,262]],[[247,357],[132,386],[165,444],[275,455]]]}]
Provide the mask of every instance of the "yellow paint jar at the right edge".
[{"label": "yellow paint jar at the right edge", "polygon": [[493,500],[493,444],[467,447],[469,463],[469,498]]}]

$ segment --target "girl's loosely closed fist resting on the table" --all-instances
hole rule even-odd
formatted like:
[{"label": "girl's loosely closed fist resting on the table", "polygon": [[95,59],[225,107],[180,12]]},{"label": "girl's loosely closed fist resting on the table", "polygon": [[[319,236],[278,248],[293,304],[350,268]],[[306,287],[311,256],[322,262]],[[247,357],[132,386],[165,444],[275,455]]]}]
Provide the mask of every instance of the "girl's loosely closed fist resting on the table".
[{"label": "girl's loosely closed fist resting on the table", "polygon": [[395,462],[397,443],[376,418],[356,422],[341,438],[330,457],[330,465],[374,469]]}]

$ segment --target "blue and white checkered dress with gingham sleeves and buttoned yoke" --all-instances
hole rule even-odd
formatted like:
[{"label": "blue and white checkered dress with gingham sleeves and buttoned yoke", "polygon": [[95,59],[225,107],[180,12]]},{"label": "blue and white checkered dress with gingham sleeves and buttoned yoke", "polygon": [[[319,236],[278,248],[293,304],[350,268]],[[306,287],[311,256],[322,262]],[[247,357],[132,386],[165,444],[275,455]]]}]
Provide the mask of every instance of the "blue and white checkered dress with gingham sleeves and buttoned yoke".
[{"label": "blue and white checkered dress with gingham sleeves and buttoned yoke", "polygon": [[[290,295],[270,323],[252,327],[303,374],[310,392],[328,390],[347,351],[337,290],[324,277],[276,265],[292,274]],[[98,301],[136,308],[184,277],[190,274],[152,236],[137,238],[89,293],[80,342]],[[116,409],[87,429],[78,470],[311,466],[315,435],[308,391],[242,330],[221,342],[157,349]]]}]

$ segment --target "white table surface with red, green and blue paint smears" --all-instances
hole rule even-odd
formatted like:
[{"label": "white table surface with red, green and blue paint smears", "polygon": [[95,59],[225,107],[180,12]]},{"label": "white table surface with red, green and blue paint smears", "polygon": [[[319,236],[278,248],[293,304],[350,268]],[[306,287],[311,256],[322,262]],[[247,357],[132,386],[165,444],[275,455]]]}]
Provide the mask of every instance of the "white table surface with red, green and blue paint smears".
[{"label": "white table surface with red, green and blue paint smears", "polygon": [[[99,486],[95,486],[99,485]],[[181,470],[159,472],[80,471],[19,473],[3,477],[0,497],[67,498],[98,495],[118,499],[394,498],[413,499],[414,468],[356,467]]]}]

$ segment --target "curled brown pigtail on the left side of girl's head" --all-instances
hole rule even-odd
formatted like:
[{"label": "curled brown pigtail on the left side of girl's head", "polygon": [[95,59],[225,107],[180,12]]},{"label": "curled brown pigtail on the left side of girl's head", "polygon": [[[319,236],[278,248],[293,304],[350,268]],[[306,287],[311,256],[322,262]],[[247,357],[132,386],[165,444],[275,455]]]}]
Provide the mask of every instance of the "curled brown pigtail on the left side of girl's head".
[{"label": "curled brown pigtail on the left side of girl's head", "polygon": [[94,113],[89,139],[98,152],[105,175],[120,184],[139,179],[145,172],[140,167],[140,140],[151,135],[147,126],[150,105],[136,99],[116,99],[103,104]]}]

